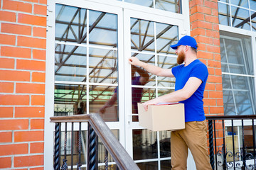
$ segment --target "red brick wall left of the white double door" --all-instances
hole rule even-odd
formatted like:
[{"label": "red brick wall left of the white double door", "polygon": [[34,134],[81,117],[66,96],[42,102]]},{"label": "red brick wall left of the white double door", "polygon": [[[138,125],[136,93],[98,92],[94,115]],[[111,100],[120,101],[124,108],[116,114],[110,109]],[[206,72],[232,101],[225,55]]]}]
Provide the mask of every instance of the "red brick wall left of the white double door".
[{"label": "red brick wall left of the white double door", "polygon": [[0,169],[43,169],[46,0],[1,0]]}]

